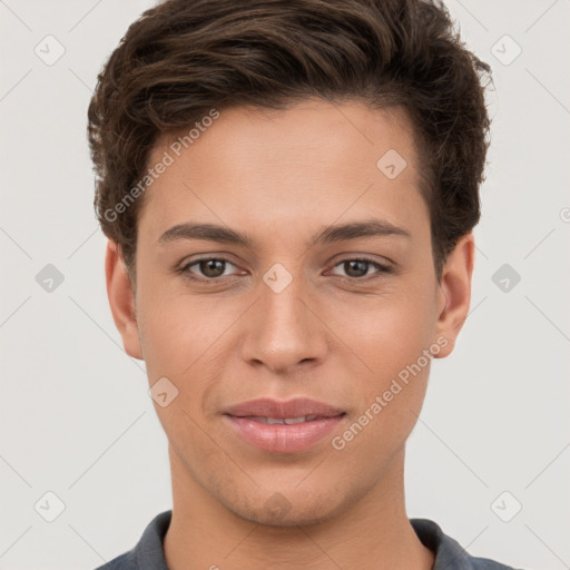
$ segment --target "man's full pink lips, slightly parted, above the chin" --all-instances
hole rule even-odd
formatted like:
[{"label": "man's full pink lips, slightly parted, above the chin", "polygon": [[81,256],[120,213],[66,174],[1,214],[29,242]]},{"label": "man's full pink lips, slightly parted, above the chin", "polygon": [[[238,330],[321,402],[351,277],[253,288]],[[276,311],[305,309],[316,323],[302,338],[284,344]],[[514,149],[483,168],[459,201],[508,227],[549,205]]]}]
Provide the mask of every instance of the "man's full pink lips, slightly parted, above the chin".
[{"label": "man's full pink lips, slightly parted, above the chin", "polygon": [[[315,420],[296,424],[268,424],[252,417],[276,419],[316,415]],[[338,407],[305,397],[278,402],[252,400],[228,407],[224,420],[247,443],[274,453],[295,453],[307,450],[330,434],[344,419]]]}]

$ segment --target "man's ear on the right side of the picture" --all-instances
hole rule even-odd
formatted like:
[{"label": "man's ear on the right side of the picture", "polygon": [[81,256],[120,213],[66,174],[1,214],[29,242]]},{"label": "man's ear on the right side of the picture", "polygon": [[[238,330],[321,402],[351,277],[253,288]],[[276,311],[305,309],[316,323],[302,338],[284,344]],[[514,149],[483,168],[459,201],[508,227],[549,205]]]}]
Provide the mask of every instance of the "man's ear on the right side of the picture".
[{"label": "man's ear on the right side of the picture", "polygon": [[436,338],[445,338],[448,342],[438,342],[441,346],[440,352],[434,354],[438,358],[444,358],[453,352],[459,332],[468,317],[474,248],[473,234],[469,233],[458,240],[445,261],[438,293],[440,316],[435,335]]}]

